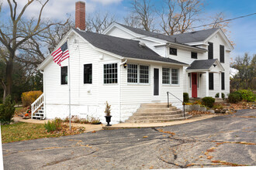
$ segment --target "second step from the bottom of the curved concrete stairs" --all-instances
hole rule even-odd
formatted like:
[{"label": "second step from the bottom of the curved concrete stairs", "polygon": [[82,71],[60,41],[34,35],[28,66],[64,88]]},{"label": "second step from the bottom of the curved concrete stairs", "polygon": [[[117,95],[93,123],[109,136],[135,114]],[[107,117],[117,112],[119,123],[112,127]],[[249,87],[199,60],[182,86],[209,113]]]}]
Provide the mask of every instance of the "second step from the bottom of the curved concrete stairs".
[{"label": "second step from the bottom of the curved concrete stairs", "polygon": [[[188,114],[185,114],[188,116]],[[171,120],[174,118],[183,117],[183,114],[161,115],[161,116],[134,116],[130,117],[130,121],[133,120]]]}]

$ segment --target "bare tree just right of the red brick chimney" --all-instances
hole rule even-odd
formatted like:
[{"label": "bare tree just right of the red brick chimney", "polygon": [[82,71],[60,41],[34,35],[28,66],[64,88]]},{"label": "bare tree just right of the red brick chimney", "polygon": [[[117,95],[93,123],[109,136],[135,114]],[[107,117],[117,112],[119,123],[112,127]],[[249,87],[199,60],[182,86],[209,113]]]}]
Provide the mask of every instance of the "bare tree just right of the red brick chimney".
[{"label": "bare tree just right of the red brick chimney", "polygon": [[95,12],[92,15],[86,16],[86,31],[102,33],[113,22],[115,22],[115,16],[106,12],[104,15],[100,12]]}]

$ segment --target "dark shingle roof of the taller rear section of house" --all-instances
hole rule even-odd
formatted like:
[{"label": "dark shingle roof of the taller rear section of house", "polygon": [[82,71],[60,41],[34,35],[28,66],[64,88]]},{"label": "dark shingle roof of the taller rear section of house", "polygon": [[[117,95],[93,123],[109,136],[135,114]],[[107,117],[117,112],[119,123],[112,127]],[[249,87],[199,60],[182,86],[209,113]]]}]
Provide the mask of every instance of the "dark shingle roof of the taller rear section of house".
[{"label": "dark shingle roof of the taller rear section of house", "polygon": [[202,42],[204,40],[206,40],[209,36],[211,36],[213,34],[213,32],[216,32],[216,30],[218,28],[213,28],[213,29],[205,29],[205,30],[200,30],[200,31],[195,31],[195,32],[186,32],[183,34],[178,34],[178,35],[173,35],[173,36],[165,36],[156,32],[149,32],[149,31],[145,31],[143,29],[136,29],[130,26],[126,26],[120,23],[117,23],[120,26],[125,27],[126,29],[130,29],[130,31],[135,32],[137,34],[141,34],[144,36],[150,36],[150,37],[154,37],[157,39],[163,39],[166,40],[168,42],[175,42],[175,38],[176,38],[176,42],[177,43],[189,43],[189,42]]}]

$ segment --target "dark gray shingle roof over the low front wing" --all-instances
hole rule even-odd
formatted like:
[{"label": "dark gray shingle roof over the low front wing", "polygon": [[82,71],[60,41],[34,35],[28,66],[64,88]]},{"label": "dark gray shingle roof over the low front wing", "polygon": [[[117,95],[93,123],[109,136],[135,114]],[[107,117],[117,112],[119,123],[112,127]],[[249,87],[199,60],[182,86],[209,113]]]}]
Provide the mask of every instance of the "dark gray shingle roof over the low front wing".
[{"label": "dark gray shingle roof over the low front wing", "polygon": [[90,42],[92,46],[119,56],[187,65],[186,63],[179,62],[175,59],[159,56],[147,46],[141,47],[139,41],[122,39],[114,36],[106,36],[94,32],[84,32],[79,31],[78,29],[74,29],[74,31],[78,32],[80,36]]}]

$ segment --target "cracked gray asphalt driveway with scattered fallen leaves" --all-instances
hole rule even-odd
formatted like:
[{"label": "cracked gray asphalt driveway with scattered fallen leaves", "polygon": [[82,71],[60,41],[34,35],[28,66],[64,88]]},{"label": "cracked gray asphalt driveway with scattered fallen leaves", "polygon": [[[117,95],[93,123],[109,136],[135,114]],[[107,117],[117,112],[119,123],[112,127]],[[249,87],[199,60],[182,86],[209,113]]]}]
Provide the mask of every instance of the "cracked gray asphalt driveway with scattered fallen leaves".
[{"label": "cracked gray asphalt driveway with scattered fallen leaves", "polygon": [[256,165],[256,110],[165,128],[2,145],[5,169],[140,169]]}]

